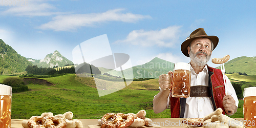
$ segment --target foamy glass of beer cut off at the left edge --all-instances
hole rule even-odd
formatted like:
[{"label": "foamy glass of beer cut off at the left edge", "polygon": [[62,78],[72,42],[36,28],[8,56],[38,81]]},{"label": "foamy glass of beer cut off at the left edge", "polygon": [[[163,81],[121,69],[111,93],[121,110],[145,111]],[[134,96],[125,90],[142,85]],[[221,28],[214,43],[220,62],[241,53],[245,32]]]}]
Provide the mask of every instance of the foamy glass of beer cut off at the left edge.
[{"label": "foamy glass of beer cut off at the left edge", "polygon": [[0,84],[0,127],[11,128],[12,88]]}]

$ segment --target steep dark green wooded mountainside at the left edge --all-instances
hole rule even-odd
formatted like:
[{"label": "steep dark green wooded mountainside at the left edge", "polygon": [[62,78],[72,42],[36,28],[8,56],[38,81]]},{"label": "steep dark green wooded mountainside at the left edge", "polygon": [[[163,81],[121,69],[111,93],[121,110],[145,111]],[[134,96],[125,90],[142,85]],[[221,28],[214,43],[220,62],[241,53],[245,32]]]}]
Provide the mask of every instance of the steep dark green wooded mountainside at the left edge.
[{"label": "steep dark green wooded mountainside at the left edge", "polygon": [[28,65],[32,63],[0,39],[0,74],[24,72]]}]

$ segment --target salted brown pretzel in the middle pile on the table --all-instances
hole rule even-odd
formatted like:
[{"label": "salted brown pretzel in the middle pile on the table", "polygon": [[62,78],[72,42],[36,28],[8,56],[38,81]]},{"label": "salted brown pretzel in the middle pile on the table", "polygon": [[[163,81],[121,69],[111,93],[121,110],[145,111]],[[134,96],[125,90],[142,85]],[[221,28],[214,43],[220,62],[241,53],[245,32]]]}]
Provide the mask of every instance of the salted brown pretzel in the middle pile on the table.
[{"label": "salted brown pretzel in the middle pile on the table", "polygon": [[125,128],[134,122],[134,117],[130,114],[107,113],[101,118],[101,128]]}]

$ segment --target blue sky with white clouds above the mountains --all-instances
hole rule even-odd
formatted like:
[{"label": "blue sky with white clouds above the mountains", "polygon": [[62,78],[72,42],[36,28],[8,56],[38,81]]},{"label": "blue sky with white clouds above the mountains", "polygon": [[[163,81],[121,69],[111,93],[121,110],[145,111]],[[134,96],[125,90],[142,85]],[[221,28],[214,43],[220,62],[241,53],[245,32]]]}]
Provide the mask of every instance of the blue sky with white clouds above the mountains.
[{"label": "blue sky with white clouds above the mountains", "polygon": [[73,61],[77,45],[106,34],[112,53],[130,55],[133,66],[189,62],[180,45],[197,28],[219,37],[212,58],[255,56],[255,1],[10,1],[0,5],[0,38],[33,59],[58,50]]}]

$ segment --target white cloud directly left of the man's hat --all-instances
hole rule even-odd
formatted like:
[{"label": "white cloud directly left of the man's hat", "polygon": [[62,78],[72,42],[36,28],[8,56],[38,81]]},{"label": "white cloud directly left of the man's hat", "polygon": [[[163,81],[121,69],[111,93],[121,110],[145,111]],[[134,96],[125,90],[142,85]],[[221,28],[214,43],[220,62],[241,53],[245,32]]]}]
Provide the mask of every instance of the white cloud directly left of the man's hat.
[{"label": "white cloud directly left of the man's hat", "polygon": [[115,43],[126,43],[141,46],[172,47],[179,39],[181,26],[169,26],[161,30],[134,30],[124,40]]}]

